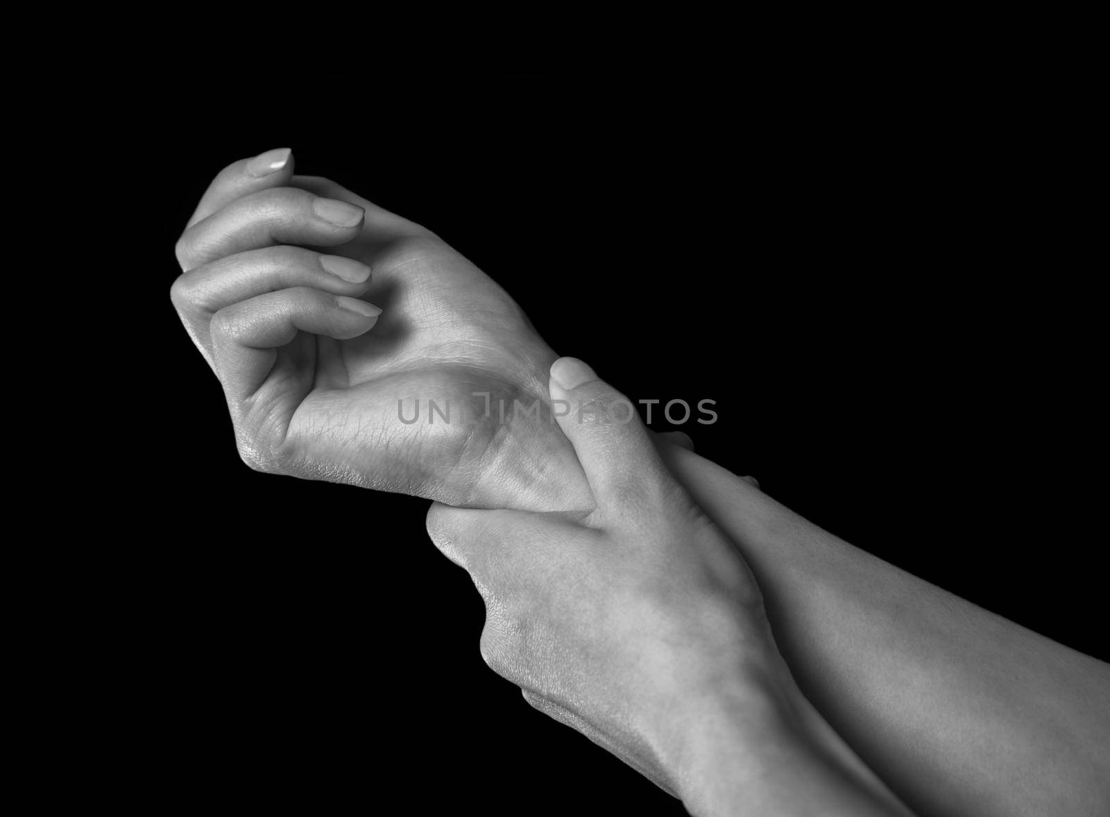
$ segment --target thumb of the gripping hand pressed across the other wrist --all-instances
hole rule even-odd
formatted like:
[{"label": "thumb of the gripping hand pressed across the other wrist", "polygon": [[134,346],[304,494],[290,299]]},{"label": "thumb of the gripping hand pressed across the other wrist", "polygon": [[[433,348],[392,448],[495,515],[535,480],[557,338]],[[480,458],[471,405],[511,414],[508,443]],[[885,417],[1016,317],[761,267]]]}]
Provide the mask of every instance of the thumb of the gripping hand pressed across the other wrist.
[{"label": "thumb of the gripping hand pressed across the other wrist", "polygon": [[[551,370],[553,413],[578,455],[598,506],[619,510],[634,494],[647,498],[667,471],[627,397],[576,357]],[[558,401],[562,401],[559,403]]]}]

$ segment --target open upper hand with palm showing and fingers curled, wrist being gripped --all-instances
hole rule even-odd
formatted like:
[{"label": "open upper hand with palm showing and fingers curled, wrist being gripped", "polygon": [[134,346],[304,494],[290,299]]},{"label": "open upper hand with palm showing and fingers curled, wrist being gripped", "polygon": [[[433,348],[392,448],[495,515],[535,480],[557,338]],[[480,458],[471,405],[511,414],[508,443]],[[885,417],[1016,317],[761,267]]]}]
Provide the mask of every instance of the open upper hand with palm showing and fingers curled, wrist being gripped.
[{"label": "open upper hand with palm showing and fingers curled, wrist being gripped", "polygon": [[[173,304],[223,384],[251,467],[456,505],[588,506],[547,417],[554,352],[430,231],[294,176],[278,150],[216,176],[176,255]],[[417,422],[402,422],[417,400]],[[514,400],[539,400],[539,417],[502,422],[500,401]],[[451,422],[428,401],[450,405]]]}]

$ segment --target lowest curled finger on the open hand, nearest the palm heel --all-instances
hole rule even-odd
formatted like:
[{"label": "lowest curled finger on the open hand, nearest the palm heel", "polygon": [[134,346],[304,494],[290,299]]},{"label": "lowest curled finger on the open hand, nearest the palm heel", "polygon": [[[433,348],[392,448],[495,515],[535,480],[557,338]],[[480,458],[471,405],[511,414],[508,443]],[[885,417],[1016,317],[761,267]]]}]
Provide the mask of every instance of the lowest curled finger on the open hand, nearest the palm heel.
[{"label": "lowest curled finger on the open hand, nearest the palm heel", "polygon": [[212,354],[230,401],[242,401],[265,382],[276,349],[299,331],[339,340],[356,337],[381,310],[365,301],[293,286],[240,301],[212,316]]}]

